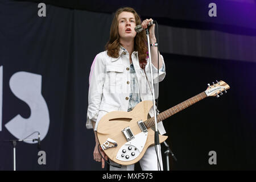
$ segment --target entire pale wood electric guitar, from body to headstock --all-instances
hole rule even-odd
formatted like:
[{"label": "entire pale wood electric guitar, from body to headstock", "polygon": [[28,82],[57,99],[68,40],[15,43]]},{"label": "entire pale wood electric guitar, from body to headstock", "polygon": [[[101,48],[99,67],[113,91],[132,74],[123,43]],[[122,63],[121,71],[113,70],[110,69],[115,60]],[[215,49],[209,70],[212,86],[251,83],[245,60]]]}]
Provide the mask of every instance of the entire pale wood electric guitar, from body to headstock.
[{"label": "entire pale wood electric guitar, from body to headstock", "polygon": [[[216,84],[213,82],[213,85],[208,84],[204,92],[158,114],[157,122],[171,117],[206,97],[220,97],[222,92],[226,93],[229,88],[224,81],[217,81]],[[97,127],[97,138],[101,149],[109,159],[121,165],[134,164],[142,158],[147,148],[154,144],[155,132],[151,127],[155,125],[155,119],[147,118],[152,105],[152,101],[142,101],[129,112],[112,111],[101,118]],[[162,143],[167,138],[159,135],[159,142]]]}]

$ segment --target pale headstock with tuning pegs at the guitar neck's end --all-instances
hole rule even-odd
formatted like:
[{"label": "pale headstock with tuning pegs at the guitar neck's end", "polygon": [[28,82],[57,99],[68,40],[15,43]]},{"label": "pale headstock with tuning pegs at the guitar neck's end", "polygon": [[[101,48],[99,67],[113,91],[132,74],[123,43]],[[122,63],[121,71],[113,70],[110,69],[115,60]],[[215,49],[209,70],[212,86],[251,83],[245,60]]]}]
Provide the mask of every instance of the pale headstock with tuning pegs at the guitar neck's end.
[{"label": "pale headstock with tuning pegs at the guitar neck's end", "polygon": [[226,93],[226,90],[228,90],[230,88],[229,85],[226,84],[226,82],[222,81],[222,80],[220,82],[218,82],[216,80],[216,84],[214,84],[214,82],[212,82],[212,83],[213,83],[212,85],[208,84],[208,88],[207,88],[207,90],[205,90],[205,94],[207,94],[207,97],[216,96],[218,98],[218,97],[220,97],[220,95],[221,96],[223,95],[222,92]]}]

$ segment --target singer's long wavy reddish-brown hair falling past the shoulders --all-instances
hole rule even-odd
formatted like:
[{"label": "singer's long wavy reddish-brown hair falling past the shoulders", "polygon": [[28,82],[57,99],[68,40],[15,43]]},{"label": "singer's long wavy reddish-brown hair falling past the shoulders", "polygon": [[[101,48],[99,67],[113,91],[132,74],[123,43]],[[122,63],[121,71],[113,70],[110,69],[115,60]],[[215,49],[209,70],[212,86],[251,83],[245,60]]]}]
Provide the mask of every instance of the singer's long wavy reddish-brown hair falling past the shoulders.
[{"label": "singer's long wavy reddish-brown hair falling past the shoulders", "polygon": [[[119,56],[119,32],[118,32],[118,15],[125,12],[130,12],[134,14],[135,17],[135,23],[136,25],[141,24],[141,18],[137,14],[137,12],[131,8],[131,7],[122,7],[119,8],[114,15],[114,19],[112,21],[112,25],[110,27],[110,36],[109,41],[106,43],[106,50],[108,52],[108,55],[110,57],[118,57]],[[142,32],[137,32],[135,38],[134,38],[134,51],[138,51],[138,57],[139,57],[139,65],[141,68],[144,69],[144,66],[146,65],[147,61],[147,39],[146,39],[146,33],[145,30]]]}]

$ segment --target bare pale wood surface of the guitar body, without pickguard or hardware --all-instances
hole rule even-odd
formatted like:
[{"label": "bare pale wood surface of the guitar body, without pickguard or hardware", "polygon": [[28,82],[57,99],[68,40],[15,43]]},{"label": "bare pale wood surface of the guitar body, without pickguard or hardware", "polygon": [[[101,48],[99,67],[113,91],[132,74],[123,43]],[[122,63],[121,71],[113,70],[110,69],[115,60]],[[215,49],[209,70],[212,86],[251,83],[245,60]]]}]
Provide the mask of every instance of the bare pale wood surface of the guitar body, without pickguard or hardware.
[{"label": "bare pale wood surface of the guitar body, without pickguard or hardware", "polygon": [[[131,131],[133,131],[134,135],[142,133],[142,130],[140,129],[137,122],[140,120],[147,120],[148,111],[150,110],[152,105],[152,101],[142,101],[139,104],[137,104],[133,110],[129,112],[112,111],[101,118],[97,127],[97,137],[100,144],[106,142],[108,138],[113,139],[115,140],[115,142],[117,142],[117,147],[108,148],[104,150],[105,154],[108,156],[109,159],[121,165],[134,164],[142,158],[147,148],[154,144],[155,132],[154,130],[149,128],[147,129],[148,135],[146,144],[144,145],[141,154],[137,158],[129,162],[123,162],[121,160],[116,159],[119,149],[123,146],[123,144],[127,142],[122,130],[129,126]],[[167,138],[167,136],[159,135],[159,142],[162,143]]]}]

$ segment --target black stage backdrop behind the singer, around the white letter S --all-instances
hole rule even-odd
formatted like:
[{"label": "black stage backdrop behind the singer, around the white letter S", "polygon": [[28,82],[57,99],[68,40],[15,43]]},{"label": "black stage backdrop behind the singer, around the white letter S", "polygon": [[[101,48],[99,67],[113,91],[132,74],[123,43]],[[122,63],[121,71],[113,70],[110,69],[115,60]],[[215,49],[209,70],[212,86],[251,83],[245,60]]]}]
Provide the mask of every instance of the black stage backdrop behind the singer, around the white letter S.
[{"label": "black stage backdrop behind the singer, around the white letter S", "polygon": [[[0,169],[13,169],[11,143],[2,142],[15,139],[6,123],[17,114],[31,116],[30,107],[10,89],[10,78],[28,72],[42,76],[49,130],[41,150],[47,164],[38,164],[36,144],[22,142],[16,168],[100,170],[92,159],[93,131],[85,128],[88,78],[94,56],[108,40],[112,14],[47,5],[47,16],[39,17],[38,3],[0,3]],[[160,111],[203,92],[216,79],[230,85],[220,98],[206,98],[164,121],[167,142],[178,159],[171,160],[171,169],[256,169],[255,62],[162,54],[167,76],[160,84]],[[217,165],[209,165],[209,151],[217,152]]]}]

